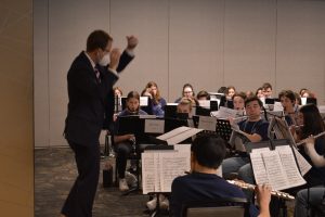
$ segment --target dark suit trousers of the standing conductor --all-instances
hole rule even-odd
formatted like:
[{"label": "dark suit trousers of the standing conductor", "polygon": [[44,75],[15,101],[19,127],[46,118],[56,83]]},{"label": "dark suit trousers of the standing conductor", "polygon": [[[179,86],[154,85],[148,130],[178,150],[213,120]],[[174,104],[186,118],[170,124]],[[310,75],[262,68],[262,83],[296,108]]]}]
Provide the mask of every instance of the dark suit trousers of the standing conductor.
[{"label": "dark suit trousers of the standing conductor", "polygon": [[81,145],[68,141],[75,152],[78,177],[65,201],[62,214],[67,217],[91,217],[100,177],[100,144]]}]

